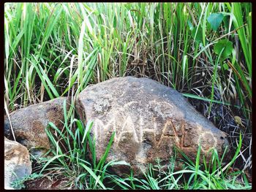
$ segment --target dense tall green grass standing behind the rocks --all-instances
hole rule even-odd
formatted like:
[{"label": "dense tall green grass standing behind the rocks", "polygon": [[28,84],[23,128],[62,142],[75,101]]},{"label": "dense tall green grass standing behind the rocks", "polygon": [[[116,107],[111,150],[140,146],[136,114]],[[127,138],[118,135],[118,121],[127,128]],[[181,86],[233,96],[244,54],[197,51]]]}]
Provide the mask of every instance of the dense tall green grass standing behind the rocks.
[{"label": "dense tall green grass standing behind the rocks", "polygon": [[[224,92],[222,99],[250,110],[251,11],[246,3],[5,4],[7,104],[14,110],[15,104],[25,107],[42,96],[65,94],[73,85],[79,92],[89,82],[129,74],[189,91],[197,88],[197,80],[209,87],[208,77],[214,74],[213,84]],[[214,12],[225,14],[231,26],[222,23],[217,32],[208,28],[206,18]],[[239,29],[228,34],[230,27]],[[191,28],[196,28],[195,36]],[[237,48],[243,51],[236,50],[229,61],[238,57],[232,63],[238,74],[232,68],[213,70],[221,64],[212,45],[226,34],[235,45],[236,33]],[[209,75],[200,76],[202,71]]]}]

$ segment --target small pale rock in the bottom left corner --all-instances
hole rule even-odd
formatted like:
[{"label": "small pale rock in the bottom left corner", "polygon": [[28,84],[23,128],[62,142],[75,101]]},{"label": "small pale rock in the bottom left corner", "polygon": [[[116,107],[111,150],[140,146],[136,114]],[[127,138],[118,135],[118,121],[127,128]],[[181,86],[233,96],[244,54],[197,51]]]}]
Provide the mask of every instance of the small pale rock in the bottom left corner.
[{"label": "small pale rock in the bottom left corner", "polygon": [[13,189],[11,183],[29,176],[31,171],[27,148],[4,137],[4,188]]}]

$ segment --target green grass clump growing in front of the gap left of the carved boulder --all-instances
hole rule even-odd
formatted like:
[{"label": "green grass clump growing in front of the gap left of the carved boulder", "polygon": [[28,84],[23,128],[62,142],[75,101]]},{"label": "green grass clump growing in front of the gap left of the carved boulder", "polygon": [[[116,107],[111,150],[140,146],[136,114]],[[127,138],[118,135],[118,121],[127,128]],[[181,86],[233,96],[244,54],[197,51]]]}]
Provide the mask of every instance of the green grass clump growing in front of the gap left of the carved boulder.
[{"label": "green grass clump growing in front of the gap left of the carved boulder", "polygon": [[[71,106],[69,112],[72,110],[74,109]],[[41,159],[40,164],[43,166],[40,174],[49,170],[58,170],[62,177],[68,178],[69,188],[107,189],[103,184],[107,167],[115,164],[127,165],[122,161],[105,164],[114,134],[105,149],[105,154],[99,162],[96,162],[94,139],[89,136],[92,122],[84,127],[82,121],[69,116],[69,112],[64,101],[64,128],[61,131],[53,123],[49,123],[45,130],[53,144],[52,150],[48,152],[53,158]],[[89,151],[91,160],[89,160]]]}]

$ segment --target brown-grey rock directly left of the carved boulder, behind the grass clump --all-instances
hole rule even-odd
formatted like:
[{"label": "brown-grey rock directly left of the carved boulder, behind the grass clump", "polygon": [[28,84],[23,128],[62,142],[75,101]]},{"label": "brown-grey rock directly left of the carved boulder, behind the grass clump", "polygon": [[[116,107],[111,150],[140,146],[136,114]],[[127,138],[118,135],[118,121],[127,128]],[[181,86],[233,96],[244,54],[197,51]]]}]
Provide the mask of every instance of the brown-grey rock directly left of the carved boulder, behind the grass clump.
[{"label": "brown-grey rock directly left of the carved boulder, behind the grass clump", "polygon": [[[61,121],[64,121],[64,100],[67,98],[59,97],[10,113],[16,141],[28,147],[33,155],[42,155],[50,149],[50,142],[45,133],[49,122],[53,122],[59,129],[63,127]],[[68,109],[69,105],[67,104]],[[8,139],[12,139],[10,121],[8,118],[4,120],[4,135]]]}]

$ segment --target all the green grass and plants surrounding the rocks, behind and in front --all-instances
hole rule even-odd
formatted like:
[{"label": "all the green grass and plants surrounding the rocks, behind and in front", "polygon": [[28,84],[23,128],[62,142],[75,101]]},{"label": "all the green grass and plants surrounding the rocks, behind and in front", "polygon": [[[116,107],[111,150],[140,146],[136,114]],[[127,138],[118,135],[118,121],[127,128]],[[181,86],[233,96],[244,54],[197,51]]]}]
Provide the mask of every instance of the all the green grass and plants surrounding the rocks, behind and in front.
[{"label": "all the green grass and plants surrounding the rocks, behind and in front", "polygon": [[[252,4],[7,3],[4,38],[6,115],[59,96],[72,96],[74,104],[87,85],[112,77],[150,77],[184,93],[197,110],[230,135],[235,150],[241,132],[237,165],[241,172],[252,168]],[[82,158],[86,149],[81,143],[89,138],[90,124],[83,130],[74,110],[66,120],[69,137],[80,139],[71,144],[61,137],[69,148],[65,153],[58,148],[55,153],[65,174],[71,176],[76,170],[72,177],[78,178],[80,170],[87,171],[77,180],[88,179],[87,184],[73,183],[77,188],[103,188],[105,177],[118,181],[121,188],[247,186],[246,180],[238,184],[234,179],[238,173],[232,177],[216,176],[219,171],[199,174],[200,169],[195,172],[195,166],[189,165],[178,174],[162,172],[166,180],[152,174],[146,180],[109,176],[110,164],[105,165],[104,158],[100,164],[88,164]],[[69,128],[78,128],[75,135]],[[55,147],[59,145],[51,140]],[[66,159],[79,161],[80,166],[65,165]],[[185,172],[197,177],[178,183]]]}]

